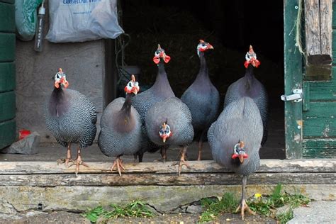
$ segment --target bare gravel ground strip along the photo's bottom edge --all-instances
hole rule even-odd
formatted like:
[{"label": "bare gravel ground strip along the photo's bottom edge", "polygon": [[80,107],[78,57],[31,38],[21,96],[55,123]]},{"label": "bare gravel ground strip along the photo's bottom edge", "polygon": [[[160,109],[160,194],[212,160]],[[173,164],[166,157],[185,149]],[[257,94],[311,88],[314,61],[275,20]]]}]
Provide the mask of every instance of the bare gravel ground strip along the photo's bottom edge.
[{"label": "bare gravel ground strip along the photo's bottom edge", "polygon": [[[154,218],[117,218],[108,223],[197,223],[199,214],[168,214]],[[30,211],[20,215],[0,214],[0,223],[87,223],[79,213],[55,211],[50,213]],[[239,214],[223,214],[211,223],[276,223],[275,220],[260,215],[246,215],[243,222]]]}]

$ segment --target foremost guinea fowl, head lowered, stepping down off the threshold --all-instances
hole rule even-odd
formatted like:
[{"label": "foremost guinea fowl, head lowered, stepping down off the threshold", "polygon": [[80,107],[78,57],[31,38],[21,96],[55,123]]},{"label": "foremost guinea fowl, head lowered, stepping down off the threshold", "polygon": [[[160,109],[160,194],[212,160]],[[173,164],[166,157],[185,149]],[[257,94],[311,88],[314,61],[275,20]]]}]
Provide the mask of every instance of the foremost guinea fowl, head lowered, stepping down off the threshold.
[{"label": "foremost guinea fowl, head lowered, stepping down off the threshold", "polygon": [[242,199],[236,210],[241,209],[242,219],[245,210],[254,214],[245,201],[245,186],[247,176],[259,169],[262,133],[262,118],[250,97],[229,103],[208,130],[215,162],[242,175]]}]

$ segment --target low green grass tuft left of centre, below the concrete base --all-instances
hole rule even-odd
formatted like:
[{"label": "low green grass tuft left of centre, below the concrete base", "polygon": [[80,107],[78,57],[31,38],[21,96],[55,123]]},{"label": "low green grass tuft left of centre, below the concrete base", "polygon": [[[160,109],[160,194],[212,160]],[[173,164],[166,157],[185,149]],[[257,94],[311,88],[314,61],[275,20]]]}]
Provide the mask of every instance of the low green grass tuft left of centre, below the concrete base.
[{"label": "low green grass tuft left of centre, below the concrete base", "polygon": [[97,220],[107,221],[112,218],[124,218],[124,217],[140,217],[150,218],[154,214],[148,209],[146,204],[140,200],[132,201],[125,206],[119,206],[111,204],[111,211],[107,211],[102,206],[89,209],[83,213],[83,217],[89,219],[92,223],[96,223]]}]

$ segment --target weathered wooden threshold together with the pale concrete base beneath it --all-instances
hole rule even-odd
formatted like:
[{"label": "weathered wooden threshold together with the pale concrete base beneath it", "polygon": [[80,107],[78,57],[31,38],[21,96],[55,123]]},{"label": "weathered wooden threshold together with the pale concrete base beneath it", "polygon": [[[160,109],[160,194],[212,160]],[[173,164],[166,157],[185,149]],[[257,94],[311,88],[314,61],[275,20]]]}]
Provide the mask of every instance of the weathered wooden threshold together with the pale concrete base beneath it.
[{"label": "weathered wooden threshold together with the pale concrete base beneath it", "polygon": [[[213,161],[189,161],[177,175],[175,162],[125,163],[120,177],[111,163],[90,162],[77,177],[56,162],[0,162],[0,213],[85,211],[95,206],[146,201],[159,213],[179,212],[201,198],[241,194],[241,178]],[[281,183],[289,192],[336,199],[336,159],[262,159],[247,181],[247,196],[270,194]]]}]

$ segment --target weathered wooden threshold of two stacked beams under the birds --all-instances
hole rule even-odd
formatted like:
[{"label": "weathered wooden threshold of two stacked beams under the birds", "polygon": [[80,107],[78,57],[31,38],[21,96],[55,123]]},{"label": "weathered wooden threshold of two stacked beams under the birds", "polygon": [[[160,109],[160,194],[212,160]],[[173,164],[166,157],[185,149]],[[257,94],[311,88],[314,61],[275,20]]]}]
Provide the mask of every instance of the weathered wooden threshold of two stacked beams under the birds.
[{"label": "weathered wooden threshold of two stacked beams under the birds", "polygon": [[[81,167],[56,162],[0,162],[0,186],[130,186],[130,185],[211,185],[240,184],[233,172],[212,160],[189,161],[177,175],[176,162],[125,164],[120,177],[111,172],[111,163],[91,162]],[[249,184],[336,184],[336,159],[262,159],[259,170],[250,175]]]}]

